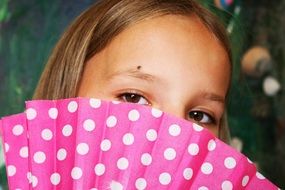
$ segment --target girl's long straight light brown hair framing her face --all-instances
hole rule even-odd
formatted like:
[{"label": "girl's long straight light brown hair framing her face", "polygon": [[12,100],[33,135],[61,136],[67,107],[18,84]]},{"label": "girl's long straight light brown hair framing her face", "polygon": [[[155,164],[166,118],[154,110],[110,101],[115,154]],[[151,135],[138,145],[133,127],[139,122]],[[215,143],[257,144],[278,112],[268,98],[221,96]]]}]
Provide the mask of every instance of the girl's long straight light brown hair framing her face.
[{"label": "girl's long straight light brown hair framing her face", "polygon": [[[163,15],[198,17],[224,47],[231,62],[225,28],[194,0],[101,0],[83,12],[63,34],[48,60],[33,98],[76,97],[87,60],[130,25]],[[220,128],[222,132],[226,129],[225,126]]]}]

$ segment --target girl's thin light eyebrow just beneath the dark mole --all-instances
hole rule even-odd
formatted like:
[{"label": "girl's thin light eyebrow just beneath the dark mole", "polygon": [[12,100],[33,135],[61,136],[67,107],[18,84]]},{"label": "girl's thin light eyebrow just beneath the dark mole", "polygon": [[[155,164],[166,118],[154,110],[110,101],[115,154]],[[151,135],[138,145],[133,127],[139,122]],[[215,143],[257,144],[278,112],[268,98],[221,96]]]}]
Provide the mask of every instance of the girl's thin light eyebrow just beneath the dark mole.
[{"label": "girl's thin light eyebrow just beneath the dark mole", "polygon": [[140,80],[144,80],[144,81],[147,81],[147,82],[153,82],[157,79],[157,77],[151,75],[151,74],[148,74],[148,73],[145,73],[145,72],[142,72],[141,70],[139,69],[128,69],[128,70],[124,70],[124,71],[119,71],[119,72],[115,72],[111,75],[108,76],[108,80],[112,80],[114,77],[117,77],[117,76],[130,76],[130,77],[133,77],[133,78],[137,78],[137,79],[140,79]]}]

